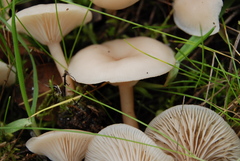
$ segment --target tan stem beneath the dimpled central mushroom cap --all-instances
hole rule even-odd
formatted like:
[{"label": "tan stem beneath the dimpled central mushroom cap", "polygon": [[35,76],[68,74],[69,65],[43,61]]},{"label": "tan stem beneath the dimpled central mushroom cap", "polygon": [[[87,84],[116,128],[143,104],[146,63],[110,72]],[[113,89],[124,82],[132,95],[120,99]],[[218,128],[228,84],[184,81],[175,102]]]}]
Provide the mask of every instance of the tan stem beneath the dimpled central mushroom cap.
[{"label": "tan stem beneath the dimpled central mushroom cap", "polygon": [[[134,94],[133,94],[133,86],[135,84],[136,84],[136,81],[118,83],[121,110],[122,112],[134,118],[136,118],[136,115],[134,112]],[[135,120],[125,115],[123,115],[122,117],[123,117],[123,122],[125,124],[138,128],[138,123]]]}]

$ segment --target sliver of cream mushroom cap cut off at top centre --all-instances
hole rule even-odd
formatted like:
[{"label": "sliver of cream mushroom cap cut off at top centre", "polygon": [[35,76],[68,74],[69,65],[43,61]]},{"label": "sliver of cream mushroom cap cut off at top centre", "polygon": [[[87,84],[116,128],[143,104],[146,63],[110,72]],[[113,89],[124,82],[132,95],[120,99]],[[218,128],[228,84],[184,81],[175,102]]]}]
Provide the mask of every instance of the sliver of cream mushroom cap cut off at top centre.
[{"label": "sliver of cream mushroom cap cut off at top centre", "polygon": [[110,10],[119,10],[127,8],[139,0],[91,0],[93,4]]}]

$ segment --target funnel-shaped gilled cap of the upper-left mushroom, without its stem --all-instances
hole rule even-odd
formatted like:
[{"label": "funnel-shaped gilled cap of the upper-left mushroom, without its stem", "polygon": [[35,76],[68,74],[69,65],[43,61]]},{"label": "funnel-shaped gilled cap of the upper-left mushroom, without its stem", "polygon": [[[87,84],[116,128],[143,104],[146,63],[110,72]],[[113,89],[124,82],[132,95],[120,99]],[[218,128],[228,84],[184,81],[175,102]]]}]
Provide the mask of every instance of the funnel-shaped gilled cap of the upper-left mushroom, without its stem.
[{"label": "funnel-shaped gilled cap of the upper-left mushroom, without its stem", "polygon": [[[85,18],[86,14],[87,16]],[[29,32],[36,40],[44,45],[51,42],[60,42],[62,36],[65,36],[74,28],[80,26],[83,21],[87,23],[92,19],[92,14],[88,12],[87,9],[72,4],[61,3],[57,3],[57,5],[40,4],[32,6],[19,11],[16,16],[24,25],[22,26],[16,19],[17,30],[26,34]],[[11,19],[8,20],[8,23],[11,24]],[[62,36],[59,25],[61,26]]]}]

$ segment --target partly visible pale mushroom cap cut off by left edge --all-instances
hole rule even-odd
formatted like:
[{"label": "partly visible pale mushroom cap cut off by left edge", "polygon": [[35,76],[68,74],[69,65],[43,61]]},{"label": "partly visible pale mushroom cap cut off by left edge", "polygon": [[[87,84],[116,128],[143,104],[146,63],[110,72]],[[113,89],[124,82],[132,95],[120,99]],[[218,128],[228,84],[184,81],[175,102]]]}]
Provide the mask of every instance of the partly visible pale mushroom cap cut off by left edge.
[{"label": "partly visible pale mushroom cap cut off by left edge", "polygon": [[0,61],[0,86],[6,85],[10,86],[16,81],[16,69],[15,67],[10,67],[6,63]]}]

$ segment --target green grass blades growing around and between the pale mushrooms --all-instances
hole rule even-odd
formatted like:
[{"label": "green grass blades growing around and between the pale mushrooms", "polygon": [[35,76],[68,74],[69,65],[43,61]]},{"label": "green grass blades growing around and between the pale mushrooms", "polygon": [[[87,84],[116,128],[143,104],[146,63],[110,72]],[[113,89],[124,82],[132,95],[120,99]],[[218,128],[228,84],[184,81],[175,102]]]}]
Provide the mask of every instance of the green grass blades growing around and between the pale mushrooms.
[{"label": "green grass blades growing around and between the pale mushrooms", "polygon": [[[76,3],[77,1],[63,0],[62,2]],[[21,3],[21,1],[13,1],[11,3],[12,16],[15,15],[16,3]],[[154,4],[155,2],[151,3]],[[146,5],[150,5],[151,3]],[[86,8],[92,6],[88,1],[84,1],[82,4],[84,4]],[[230,0],[225,2],[223,8],[229,9],[233,4],[240,5],[236,0]],[[99,30],[96,30],[94,24],[97,24],[98,22],[93,22],[86,26],[79,27],[67,35],[63,41],[63,49],[66,59],[71,59],[74,53],[80,48],[93,43],[108,41],[115,36],[115,38],[125,38],[133,35],[151,35],[154,38],[169,43],[170,47],[176,52],[176,59],[178,62],[168,75],[142,80],[135,86],[137,113],[145,113],[148,111],[153,118],[157,113],[177,104],[200,104],[217,112],[231,127],[236,129],[236,133],[240,133],[240,55],[239,52],[235,50],[238,49],[239,46],[240,27],[237,18],[233,19],[231,23],[228,23],[231,25],[228,26],[228,24],[225,24],[225,20],[229,15],[228,13],[222,12],[222,30],[219,33],[220,36],[218,34],[212,36],[213,39],[209,42],[208,40],[211,39],[211,36],[209,36],[211,31],[199,38],[194,36],[190,37],[185,33],[179,32],[177,28],[172,29],[174,26],[171,19],[172,13],[167,13],[167,10],[164,10],[167,14],[166,18],[159,16],[164,20],[162,21],[163,23],[154,20],[154,23],[148,24],[146,18],[139,20],[139,22],[135,22],[129,17],[129,19],[125,19],[123,18],[124,16],[122,16],[123,13],[121,11],[116,15],[111,15],[105,10],[99,11],[92,8],[89,9],[103,17],[102,21],[106,21],[106,24],[101,24],[105,28],[102,29],[97,26],[99,27]],[[146,9],[144,9],[144,11],[145,10]],[[7,23],[3,14],[0,18],[2,22],[1,29],[4,30],[3,26],[7,25]],[[142,21],[145,21],[145,23],[140,23]],[[1,100],[0,112],[1,142],[10,142],[16,137],[20,140],[19,142],[21,142],[21,140],[22,142],[26,141],[26,138],[21,139],[21,133],[19,133],[19,131],[25,129],[33,130],[36,135],[39,135],[41,131],[43,132],[45,130],[61,130],[55,126],[56,123],[54,120],[51,120],[50,123],[44,119],[35,120],[36,116],[40,113],[43,114],[44,111],[46,112],[50,109],[57,109],[59,106],[66,107],[66,105],[74,104],[74,101],[78,101],[80,98],[82,99],[82,97],[84,97],[85,100],[94,102],[104,108],[108,113],[107,115],[111,116],[108,118],[108,121],[111,123],[119,121],[112,119],[115,115],[126,115],[118,109],[119,104],[116,100],[118,100],[119,96],[115,94],[116,89],[114,87],[108,88],[109,86],[98,86],[98,88],[88,86],[85,89],[85,86],[80,85],[80,90],[75,91],[74,97],[59,98],[57,102],[50,101],[46,103],[46,105],[44,104],[45,108],[43,110],[38,111],[39,99],[41,97],[47,97],[47,94],[50,94],[50,96],[54,95],[53,88],[49,89],[45,94],[39,94],[41,88],[38,84],[39,73],[37,73],[39,61],[36,60],[35,56],[32,54],[29,44],[25,42],[25,35],[17,33],[14,26],[15,22],[13,19],[11,27],[13,46],[9,47],[8,40],[5,35],[1,33],[0,39],[2,44],[0,45],[0,49],[8,58],[8,63],[14,65],[17,69],[17,81],[15,87],[19,86],[20,88],[21,97],[26,111],[24,115],[25,117],[16,119],[11,118],[9,113],[13,110],[12,102],[15,100],[14,96],[16,95],[9,93],[7,95],[8,97],[3,97],[3,100]],[[10,26],[8,27],[10,28]],[[125,28],[123,34],[119,35],[118,33],[120,32],[121,27]],[[234,28],[237,32],[228,29],[228,27]],[[166,32],[167,29],[169,29],[169,33]],[[175,30],[178,32],[174,32]],[[105,35],[101,32],[104,32]],[[217,40],[214,38],[217,38]],[[34,48],[47,52],[46,48],[36,43],[35,40],[29,37],[27,37],[27,40],[34,46]],[[216,41],[217,45],[215,45],[214,41]],[[19,46],[25,48],[27,52],[25,56],[22,55]],[[32,81],[34,91],[31,101],[29,101],[30,98],[27,95],[25,85],[26,77],[29,74],[27,72],[28,69],[24,68],[27,59],[30,60],[32,66],[31,70],[33,72]],[[49,62],[52,61],[49,60]],[[93,90],[93,92],[89,92],[89,89]],[[2,90],[4,90],[3,92],[5,93],[7,91],[4,88],[2,88]],[[138,117],[138,119],[135,120],[141,124],[142,128],[148,126],[149,119],[145,119],[145,116]],[[8,136],[10,136],[10,139]],[[172,141],[176,142],[174,140]],[[9,144],[9,146],[14,148],[15,144]],[[9,150],[9,147],[7,147],[5,151],[1,151],[1,153],[8,153],[9,158],[12,158],[15,155],[10,154],[11,148]],[[196,156],[192,157],[201,160]]]}]

